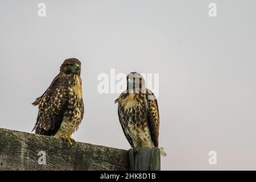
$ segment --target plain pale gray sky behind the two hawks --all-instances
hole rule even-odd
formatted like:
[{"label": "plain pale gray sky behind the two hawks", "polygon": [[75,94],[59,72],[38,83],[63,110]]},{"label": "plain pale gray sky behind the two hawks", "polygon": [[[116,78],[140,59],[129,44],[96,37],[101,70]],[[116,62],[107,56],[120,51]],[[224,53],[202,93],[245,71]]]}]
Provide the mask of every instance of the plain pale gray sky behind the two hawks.
[{"label": "plain pale gray sky behind the two hawks", "polygon": [[[38,4],[46,3],[46,17]],[[162,169],[256,169],[256,2],[0,2],[0,127],[30,132],[68,57],[82,62],[85,116],[73,138],[129,149],[100,73],[159,73]],[[209,165],[208,152],[217,152]]]}]

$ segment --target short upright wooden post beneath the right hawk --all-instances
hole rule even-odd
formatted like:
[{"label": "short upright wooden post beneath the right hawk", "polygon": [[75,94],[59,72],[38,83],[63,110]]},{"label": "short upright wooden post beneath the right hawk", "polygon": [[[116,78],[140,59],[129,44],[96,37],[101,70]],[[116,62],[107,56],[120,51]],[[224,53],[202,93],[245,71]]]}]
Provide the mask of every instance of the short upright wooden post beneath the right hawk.
[{"label": "short upright wooden post beneath the right hawk", "polygon": [[160,150],[157,147],[131,148],[130,171],[160,171]]}]

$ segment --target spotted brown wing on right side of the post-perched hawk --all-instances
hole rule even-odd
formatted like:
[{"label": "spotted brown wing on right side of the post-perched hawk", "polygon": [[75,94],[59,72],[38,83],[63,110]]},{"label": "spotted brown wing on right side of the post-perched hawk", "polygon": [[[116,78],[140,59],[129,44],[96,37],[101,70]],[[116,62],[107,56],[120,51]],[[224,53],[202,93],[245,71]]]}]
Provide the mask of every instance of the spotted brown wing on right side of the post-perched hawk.
[{"label": "spotted brown wing on right side of the post-perched hawk", "polygon": [[158,101],[154,93],[147,89],[147,104],[148,104],[148,126],[150,127],[150,133],[152,141],[155,147],[158,147],[158,136],[159,136],[159,110]]}]

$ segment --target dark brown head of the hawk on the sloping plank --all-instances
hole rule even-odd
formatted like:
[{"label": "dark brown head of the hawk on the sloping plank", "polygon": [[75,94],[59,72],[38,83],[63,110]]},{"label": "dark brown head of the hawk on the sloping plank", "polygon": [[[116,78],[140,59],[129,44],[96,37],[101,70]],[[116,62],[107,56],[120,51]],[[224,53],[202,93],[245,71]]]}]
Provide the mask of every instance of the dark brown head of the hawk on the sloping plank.
[{"label": "dark brown head of the hawk on the sloping plank", "polygon": [[66,74],[76,74],[80,76],[81,62],[76,58],[69,58],[61,64],[60,71]]}]

